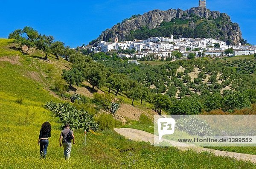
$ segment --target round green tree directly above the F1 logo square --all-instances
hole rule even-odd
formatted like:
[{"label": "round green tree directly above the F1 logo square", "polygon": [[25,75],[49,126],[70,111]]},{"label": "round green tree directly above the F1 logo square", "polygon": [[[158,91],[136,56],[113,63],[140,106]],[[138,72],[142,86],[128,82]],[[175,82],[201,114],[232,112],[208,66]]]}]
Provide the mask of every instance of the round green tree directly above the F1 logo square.
[{"label": "round green tree directly above the F1 logo square", "polygon": [[153,103],[155,109],[158,111],[159,114],[161,114],[162,109],[168,109],[172,104],[170,98],[162,94],[154,95]]}]

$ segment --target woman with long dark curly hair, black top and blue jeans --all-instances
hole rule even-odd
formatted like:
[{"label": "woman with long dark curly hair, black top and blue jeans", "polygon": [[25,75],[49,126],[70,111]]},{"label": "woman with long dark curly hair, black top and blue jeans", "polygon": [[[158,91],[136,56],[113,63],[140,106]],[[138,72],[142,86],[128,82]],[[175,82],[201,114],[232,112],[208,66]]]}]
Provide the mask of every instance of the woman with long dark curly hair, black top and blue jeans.
[{"label": "woman with long dark curly hair, black top and blue jeans", "polygon": [[42,124],[38,144],[40,144],[40,157],[46,158],[47,147],[49,145],[49,137],[51,137],[51,124],[46,121]]}]

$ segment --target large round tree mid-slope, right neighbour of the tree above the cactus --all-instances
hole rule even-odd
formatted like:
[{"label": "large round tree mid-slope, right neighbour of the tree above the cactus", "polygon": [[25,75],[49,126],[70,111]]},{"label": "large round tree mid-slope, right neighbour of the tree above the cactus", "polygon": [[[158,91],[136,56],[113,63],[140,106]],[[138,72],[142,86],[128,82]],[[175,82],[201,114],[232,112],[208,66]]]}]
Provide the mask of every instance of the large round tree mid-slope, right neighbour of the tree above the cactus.
[{"label": "large round tree mid-slope, right neighbour of the tree above the cactus", "polygon": [[94,90],[95,87],[100,87],[104,83],[106,79],[106,73],[100,68],[94,66],[88,68],[88,70],[85,72],[85,79],[89,81]]}]

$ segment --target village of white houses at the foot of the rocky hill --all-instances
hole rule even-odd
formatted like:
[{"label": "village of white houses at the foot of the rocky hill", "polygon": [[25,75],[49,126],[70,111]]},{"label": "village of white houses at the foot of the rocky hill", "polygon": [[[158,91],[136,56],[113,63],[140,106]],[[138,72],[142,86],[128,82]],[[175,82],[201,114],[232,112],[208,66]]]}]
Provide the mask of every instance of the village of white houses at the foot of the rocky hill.
[{"label": "village of white houses at the foot of the rocky hill", "polygon": [[[215,46],[218,46],[216,48]],[[83,48],[83,47],[80,47]],[[109,52],[117,50],[132,50],[137,51],[135,54],[119,54],[119,57],[125,56],[127,58],[137,59],[146,57],[148,55],[158,56],[159,58],[172,54],[174,51],[179,51],[184,57],[187,57],[189,53],[194,53],[196,56],[225,56],[224,51],[226,49],[233,48],[234,53],[229,56],[243,56],[256,53],[256,46],[250,45],[227,45],[226,42],[211,39],[211,38],[179,38],[174,39],[171,37],[151,37],[146,40],[137,40],[118,42],[118,38],[115,38],[115,42],[101,41],[97,47],[93,47],[91,51],[94,52]]]}]

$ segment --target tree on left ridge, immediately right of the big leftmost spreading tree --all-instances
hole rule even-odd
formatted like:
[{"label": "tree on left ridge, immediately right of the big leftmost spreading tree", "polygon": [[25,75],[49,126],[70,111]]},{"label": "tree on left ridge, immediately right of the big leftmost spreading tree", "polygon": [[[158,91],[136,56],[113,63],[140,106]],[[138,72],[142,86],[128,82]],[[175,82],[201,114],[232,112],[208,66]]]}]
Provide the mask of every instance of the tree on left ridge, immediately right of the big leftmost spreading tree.
[{"label": "tree on left ridge, immediately right of the big leftmost spreading tree", "polygon": [[46,36],[46,35],[41,36],[40,35],[38,40],[36,41],[36,48],[44,52],[45,60],[48,60],[48,54],[51,53],[50,46],[51,46],[53,40],[54,40],[54,37],[52,37],[51,35],[50,36]]}]

